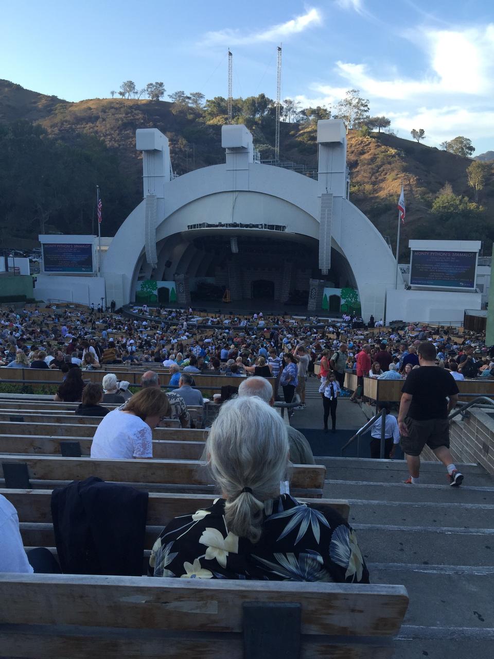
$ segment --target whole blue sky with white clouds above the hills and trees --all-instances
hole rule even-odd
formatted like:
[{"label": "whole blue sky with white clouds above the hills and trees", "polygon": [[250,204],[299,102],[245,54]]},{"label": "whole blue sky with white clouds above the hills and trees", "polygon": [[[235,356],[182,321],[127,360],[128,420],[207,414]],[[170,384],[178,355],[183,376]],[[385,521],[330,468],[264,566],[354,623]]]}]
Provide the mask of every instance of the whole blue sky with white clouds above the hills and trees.
[{"label": "whole blue sky with white clouds above the hills and trees", "polygon": [[69,101],[124,80],[167,94],[276,96],[335,109],[346,90],[425,144],[462,135],[494,150],[492,0],[0,0],[0,78]]}]

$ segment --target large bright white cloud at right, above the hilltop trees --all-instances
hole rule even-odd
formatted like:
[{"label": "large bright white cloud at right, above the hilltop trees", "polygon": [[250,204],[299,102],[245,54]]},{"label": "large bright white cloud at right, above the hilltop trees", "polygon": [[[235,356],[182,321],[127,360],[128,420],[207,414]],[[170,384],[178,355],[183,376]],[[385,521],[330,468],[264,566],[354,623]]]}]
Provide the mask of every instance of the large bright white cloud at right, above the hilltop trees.
[{"label": "large bright white cloud at right, above the hilltop trees", "polygon": [[427,67],[420,74],[403,76],[386,64],[388,74],[383,75],[385,67],[374,73],[369,65],[338,61],[329,84],[310,85],[312,94],[298,100],[334,107],[346,89],[357,88],[370,99],[371,113],[390,117],[404,137],[412,128],[424,128],[429,144],[456,135],[493,138],[494,24],[414,28],[404,37],[425,55]]}]

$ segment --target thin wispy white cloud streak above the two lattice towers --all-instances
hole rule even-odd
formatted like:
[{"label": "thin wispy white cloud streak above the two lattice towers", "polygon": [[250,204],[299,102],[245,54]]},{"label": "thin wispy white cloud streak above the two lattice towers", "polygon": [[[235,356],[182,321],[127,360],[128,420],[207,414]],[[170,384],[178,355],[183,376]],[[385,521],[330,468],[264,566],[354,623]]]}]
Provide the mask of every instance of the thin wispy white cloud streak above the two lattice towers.
[{"label": "thin wispy white cloud streak above the two lattice towers", "polygon": [[219,30],[218,32],[207,32],[202,41],[203,45],[250,45],[259,42],[281,42],[288,39],[292,34],[299,34],[308,28],[320,25],[322,15],[319,9],[307,9],[302,16],[296,16],[285,23],[274,25],[267,30],[243,34],[241,30]]}]

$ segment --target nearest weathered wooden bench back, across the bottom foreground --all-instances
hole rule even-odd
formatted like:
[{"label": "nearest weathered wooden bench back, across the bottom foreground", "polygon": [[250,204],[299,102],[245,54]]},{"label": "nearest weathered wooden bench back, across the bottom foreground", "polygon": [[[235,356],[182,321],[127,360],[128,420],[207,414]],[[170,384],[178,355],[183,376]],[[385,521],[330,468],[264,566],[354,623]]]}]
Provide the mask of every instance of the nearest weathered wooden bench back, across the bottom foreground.
[{"label": "nearest weathered wooden bench back, across the bottom foreground", "polygon": [[1,652],[23,659],[388,659],[402,586],[0,575]]}]

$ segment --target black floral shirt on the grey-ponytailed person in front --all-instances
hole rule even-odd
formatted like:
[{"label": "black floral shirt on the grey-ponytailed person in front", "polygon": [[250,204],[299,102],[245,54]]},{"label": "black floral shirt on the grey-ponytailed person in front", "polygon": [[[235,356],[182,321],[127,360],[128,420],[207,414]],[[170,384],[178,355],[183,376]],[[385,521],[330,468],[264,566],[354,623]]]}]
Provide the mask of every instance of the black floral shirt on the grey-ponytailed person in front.
[{"label": "black floral shirt on the grey-ponytailed person in front", "polygon": [[225,500],[176,517],[151,552],[149,574],[188,579],[369,583],[354,531],[336,511],[323,514],[288,494],[265,501],[261,539],[227,529]]}]

